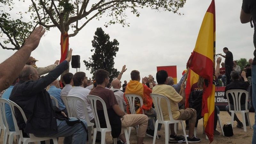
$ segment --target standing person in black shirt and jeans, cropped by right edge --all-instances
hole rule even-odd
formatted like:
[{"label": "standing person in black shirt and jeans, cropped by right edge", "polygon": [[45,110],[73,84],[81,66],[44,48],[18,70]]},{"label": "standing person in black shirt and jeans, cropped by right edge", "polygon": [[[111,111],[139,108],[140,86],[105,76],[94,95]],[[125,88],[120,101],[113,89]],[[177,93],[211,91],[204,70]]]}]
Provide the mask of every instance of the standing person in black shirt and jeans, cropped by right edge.
[{"label": "standing person in black shirt and jeans, cropped by right edge", "polygon": [[[255,0],[243,0],[242,10],[240,15],[241,23],[251,22],[251,27],[254,25],[253,44],[256,48],[256,1]],[[253,25],[252,25],[253,23]],[[253,52],[254,58],[252,61],[252,105],[256,109],[256,49]],[[256,112],[256,111],[255,111]],[[254,115],[256,122],[256,115]],[[252,143],[256,143],[256,123],[253,125]]]}]

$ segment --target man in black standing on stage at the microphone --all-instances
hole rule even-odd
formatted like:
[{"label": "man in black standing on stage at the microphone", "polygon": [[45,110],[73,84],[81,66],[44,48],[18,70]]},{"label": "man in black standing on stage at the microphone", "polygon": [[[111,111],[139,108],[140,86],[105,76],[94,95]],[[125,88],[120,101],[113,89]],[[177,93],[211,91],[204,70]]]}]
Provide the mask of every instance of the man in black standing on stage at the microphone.
[{"label": "man in black standing on stage at the microphone", "polygon": [[230,73],[233,70],[233,54],[232,52],[228,51],[227,47],[223,48],[223,52],[226,53],[226,55],[220,54],[223,58],[225,58],[225,75],[227,77],[227,84],[231,82]]}]

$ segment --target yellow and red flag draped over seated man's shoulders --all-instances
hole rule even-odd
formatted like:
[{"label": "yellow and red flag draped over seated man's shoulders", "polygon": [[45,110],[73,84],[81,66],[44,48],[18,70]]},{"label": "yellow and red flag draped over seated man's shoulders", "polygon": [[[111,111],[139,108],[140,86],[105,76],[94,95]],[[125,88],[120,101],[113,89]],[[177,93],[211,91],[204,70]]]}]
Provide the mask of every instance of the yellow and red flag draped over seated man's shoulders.
[{"label": "yellow and red flag draped over seated man's shoulders", "polygon": [[124,93],[124,100],[127,103],[127,107],[126,107],[127,112],[130,114],[130,111],[129,111],[130,106],[125,98],[125,94],[137,94],[141,96],[143,100],[143,106],[141,107],[140,101],[135,99],[135,108],[136,108],[136,114],[142,114],[142,109],[150,110],[152,108],[153,100],[149,95],[150,93],[152,93],[152,90],[148,88],[147,85],[141,84],[139,81],[130,80],[130,82],[125,87],[125,93]]}]

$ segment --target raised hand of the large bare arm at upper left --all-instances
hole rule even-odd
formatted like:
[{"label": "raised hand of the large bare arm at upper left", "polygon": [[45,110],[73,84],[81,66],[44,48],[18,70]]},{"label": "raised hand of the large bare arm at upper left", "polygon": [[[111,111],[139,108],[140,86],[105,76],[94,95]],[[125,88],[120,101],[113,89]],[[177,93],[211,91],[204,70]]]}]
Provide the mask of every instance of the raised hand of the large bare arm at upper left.
[{"label": "raised hand of the large bare arm at upper left", "polygon": [[43,26],[38,26],[35,30],[25,39],[23,46],[29,47],[30,49],[35,50],[40,42],[41,37],[44,35],[45,29]]}]

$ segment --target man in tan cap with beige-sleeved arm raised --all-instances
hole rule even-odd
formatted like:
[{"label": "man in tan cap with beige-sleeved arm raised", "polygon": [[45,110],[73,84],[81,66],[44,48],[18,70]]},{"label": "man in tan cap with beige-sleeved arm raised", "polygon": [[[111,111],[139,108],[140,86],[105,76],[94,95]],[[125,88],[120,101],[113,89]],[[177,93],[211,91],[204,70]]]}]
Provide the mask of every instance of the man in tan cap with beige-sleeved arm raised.
[{"label": "man in tan cap with beige-sleeved arm raised", "polygon": [[37,71],[37,73],[38,73],[38,76],[42,76],[42,75],[44,75],[44,74],[49,73],[49,72],[52,71],[54,68],[56,68],[56,67],[58,66],[59,62],[60,62],[60,60],[56,60],[55,63],[52,64],[52,65],[49,65],[49,66],[44,67],[44,68],[38,68],[38,67],[36,66],[36,61],[38,61],[38,60],[36,60],[36,59],[33,58],[33,57],[29,57],[29,59],[28,59],[28,61],[27,61],[27,65],[30,65],[30,66],[36,68],[36,71]]}]

